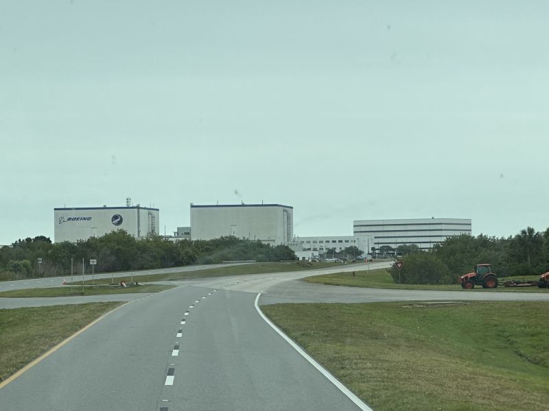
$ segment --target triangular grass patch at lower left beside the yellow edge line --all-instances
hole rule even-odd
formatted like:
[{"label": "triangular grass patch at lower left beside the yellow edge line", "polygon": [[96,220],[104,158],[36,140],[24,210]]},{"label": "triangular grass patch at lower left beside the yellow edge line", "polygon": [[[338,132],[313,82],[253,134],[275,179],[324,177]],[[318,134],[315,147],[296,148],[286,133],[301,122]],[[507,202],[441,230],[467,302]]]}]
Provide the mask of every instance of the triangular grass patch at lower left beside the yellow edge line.
[{"label": "triangular grass patch at lower left beside the yellow edge line", "polygon": [[120,304],[0,310],[0,381]]}]

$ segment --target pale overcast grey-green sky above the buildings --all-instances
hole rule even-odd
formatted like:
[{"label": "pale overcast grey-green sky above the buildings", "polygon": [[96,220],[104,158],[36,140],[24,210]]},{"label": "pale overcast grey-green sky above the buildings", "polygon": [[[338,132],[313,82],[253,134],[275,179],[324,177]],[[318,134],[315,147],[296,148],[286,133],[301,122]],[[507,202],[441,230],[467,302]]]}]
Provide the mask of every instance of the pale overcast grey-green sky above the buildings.
[{"label": "pale overcast grey-green sky above the buildings", "polygon": [[0,1],[0,245],[54,208],[549,227],[546,1]]}]

